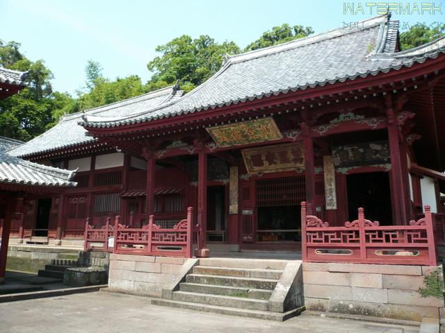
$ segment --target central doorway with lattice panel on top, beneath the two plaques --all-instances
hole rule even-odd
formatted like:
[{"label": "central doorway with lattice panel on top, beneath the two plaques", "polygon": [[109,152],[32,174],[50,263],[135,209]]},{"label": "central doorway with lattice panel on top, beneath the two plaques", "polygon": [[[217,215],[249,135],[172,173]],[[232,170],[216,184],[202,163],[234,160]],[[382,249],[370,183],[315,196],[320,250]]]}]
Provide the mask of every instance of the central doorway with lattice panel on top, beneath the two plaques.
[{"label": "central doorway with lattice panel on top, beneath the two plaques", "polygon": [[301,241],[305,177],[257,180],[257,240]]}]

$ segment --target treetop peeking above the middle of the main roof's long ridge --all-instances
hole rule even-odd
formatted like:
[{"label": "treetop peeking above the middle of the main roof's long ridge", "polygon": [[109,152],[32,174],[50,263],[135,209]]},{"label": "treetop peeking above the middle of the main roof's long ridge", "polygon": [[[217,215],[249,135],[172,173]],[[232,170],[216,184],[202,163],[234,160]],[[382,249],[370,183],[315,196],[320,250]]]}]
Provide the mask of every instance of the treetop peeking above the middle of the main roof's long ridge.
[{"label": "treetop peeking above the middle of the main roof's long ridge", "polygon": [[291,40],[298,40],[312,35],[312,33],[314,33],[314,30],[310,26],[290,26],[285,23],[281,26],[274,26],[272,30],[264,32],[258,40],[245,46],[244,51],[253,51]]}]

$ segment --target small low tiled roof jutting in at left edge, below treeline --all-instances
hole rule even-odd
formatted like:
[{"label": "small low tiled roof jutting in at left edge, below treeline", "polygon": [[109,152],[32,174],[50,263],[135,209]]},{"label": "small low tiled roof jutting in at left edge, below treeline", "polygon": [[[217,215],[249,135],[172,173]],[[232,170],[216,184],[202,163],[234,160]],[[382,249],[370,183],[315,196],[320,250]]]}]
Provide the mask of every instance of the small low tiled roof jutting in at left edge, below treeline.
[{"label": "small low tiled roof jutting in at left edge, below treeline", "polygon": [[76,186],[76,182],[71,181],[75,171],[47,167],[9,155],[6,148],[11,142],[15,140],[0,137],[0,186],[5,183],[46,187]]}]

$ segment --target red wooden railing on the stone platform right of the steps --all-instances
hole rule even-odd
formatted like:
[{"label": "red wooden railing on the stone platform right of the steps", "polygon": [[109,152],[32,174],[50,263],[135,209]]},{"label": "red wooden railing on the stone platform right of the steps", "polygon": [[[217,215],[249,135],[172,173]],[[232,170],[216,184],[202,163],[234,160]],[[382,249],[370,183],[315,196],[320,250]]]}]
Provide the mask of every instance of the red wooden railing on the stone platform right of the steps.
[{"label": "red wooden railing on the stone platform right of the steps", "polygon": [[357,220],[330,227],[303,202],[301,221],[304,262],[437,265],[429,206],[425,216],[410,225],[379,226],[366,220],[359,208]]}]

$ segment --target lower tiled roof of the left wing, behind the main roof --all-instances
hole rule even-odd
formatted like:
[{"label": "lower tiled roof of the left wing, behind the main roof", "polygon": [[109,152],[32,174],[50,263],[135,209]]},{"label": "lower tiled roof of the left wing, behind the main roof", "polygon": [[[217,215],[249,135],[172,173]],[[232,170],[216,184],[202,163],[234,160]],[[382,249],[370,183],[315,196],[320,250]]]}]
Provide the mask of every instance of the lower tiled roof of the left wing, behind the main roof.
[{"label": "lower tiled roof of the left wing, behind the main roof", "polygon": [[[174,85],[131,99],[94,108],[86,111],[85,114],[94,115],[95,117],[99,115],[102,117],[118,117],[120,119],[121,117],[128,117],[130,114],[151,110],[163,103],[170,103],[170,101],[175,101],[180,96],[182,96],[182,91],[178,90],[177,86]],[[10,151],[10,154],[26,157],[94,142],[95,139],[86,136],[87,131],[78,125],[82,114],[82,112],[76,112],[63,116],[56,126],[26,142],[26,144],[13,149]]]}]

